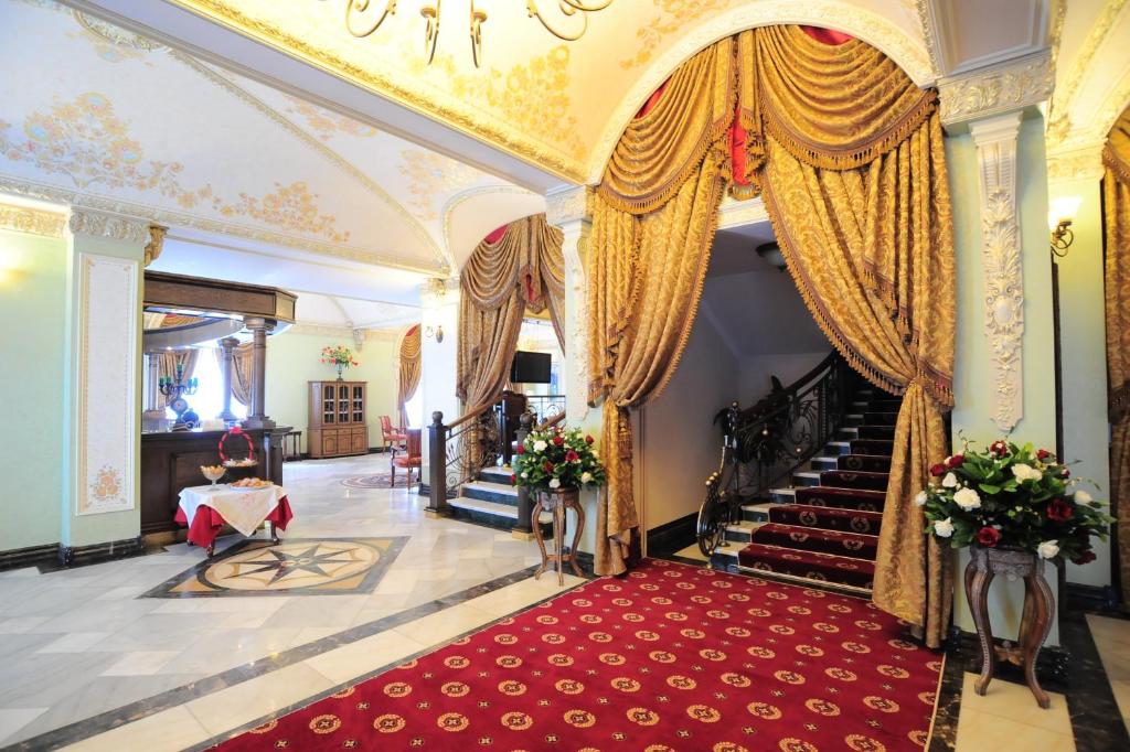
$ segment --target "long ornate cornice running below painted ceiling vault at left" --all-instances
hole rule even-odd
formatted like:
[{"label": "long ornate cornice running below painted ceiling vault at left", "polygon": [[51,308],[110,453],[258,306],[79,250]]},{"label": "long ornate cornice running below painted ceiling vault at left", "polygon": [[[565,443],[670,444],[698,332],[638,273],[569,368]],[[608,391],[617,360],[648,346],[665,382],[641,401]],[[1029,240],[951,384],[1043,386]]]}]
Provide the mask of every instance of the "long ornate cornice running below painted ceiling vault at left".
[{"label": "long ornate cornice running below painted ceiling vault at left", "polygon": [[80,191],[72,191],[55,185],[5,175],[3,173],[0,173],[0,193],[10,193],[12,195],[36,199],[40,201],[50,201],[52,203],[61,203],[70,207],[85,207],[95,211],[144,217],[148,221],[168,227],[188,227],[206,233],[231,235],[249,241],[259,241],[260,243],[269,243],[289,248],[297,248],[299,251],[311,251],[327,256],[334,256],[337,259],[345,259],[347,261],[355,261],[364,264],[386,266],[389,269],[399,269],[401,271],[414,272],[417,274],[435,274],[435,269],[418,266],[399,261],[377,251],[338,246],[307,237],[293,236],[284,233],[264,231],[245,225],[221,222],[214,219],[195,217],[193,215],[171,211],[168,209],[162,209],[159,207],[137,203],[133,201],[115,201],[105,199],[101,195],[82,193]]}]

